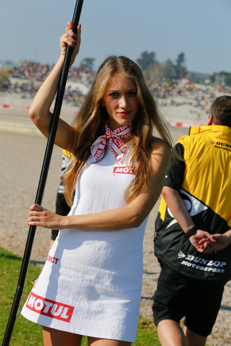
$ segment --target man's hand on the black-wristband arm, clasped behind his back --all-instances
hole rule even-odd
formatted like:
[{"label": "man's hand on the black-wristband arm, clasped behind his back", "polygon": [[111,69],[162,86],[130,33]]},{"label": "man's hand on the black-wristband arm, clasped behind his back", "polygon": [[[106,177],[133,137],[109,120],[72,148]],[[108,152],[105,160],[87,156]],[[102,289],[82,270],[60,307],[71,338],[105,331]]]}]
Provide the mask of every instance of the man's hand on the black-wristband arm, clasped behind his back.
[{"label": "man's hand on the black-wristband arm, clasped behind his back", "polygon": [[189,241],[197,249],[198,252],[201,252],[203,254],[211,254],[214,251],[211,246],[210,239],[210,233],[198,229],[196,233],[189,238]]}]

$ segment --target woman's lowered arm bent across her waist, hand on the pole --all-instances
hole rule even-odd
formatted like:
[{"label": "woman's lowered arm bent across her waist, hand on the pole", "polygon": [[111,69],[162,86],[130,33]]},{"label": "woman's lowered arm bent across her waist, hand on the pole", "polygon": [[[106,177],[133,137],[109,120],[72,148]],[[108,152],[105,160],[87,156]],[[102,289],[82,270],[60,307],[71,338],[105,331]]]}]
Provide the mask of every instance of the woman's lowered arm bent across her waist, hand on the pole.
[{"label": "woman's lowered arm bent across her waist, hand on the pole", "polygon": [[89,215],[60,216],[38,204],[30,207],[28,224],[50,229],[83,229],[113,231],[124,228],[139,227],[156,204],[165,180],[171,150],[161,139],[156,139],[152,146],[152,167],[149,187],[152,195],[143,189],[127,206]]}]

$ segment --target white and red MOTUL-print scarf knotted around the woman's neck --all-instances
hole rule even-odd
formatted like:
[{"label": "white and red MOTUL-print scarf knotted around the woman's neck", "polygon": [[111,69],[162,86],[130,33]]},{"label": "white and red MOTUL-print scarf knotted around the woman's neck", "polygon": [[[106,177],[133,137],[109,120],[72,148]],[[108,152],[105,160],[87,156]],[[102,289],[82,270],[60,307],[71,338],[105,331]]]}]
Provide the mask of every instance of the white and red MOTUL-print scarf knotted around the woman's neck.
[{"label": "white and red MOTUL-print scarf knotted around the woman's neck", "polygon": [[115,129],[114,131],[109,129],[109,127],[106,124],[105,135],[99,136],[99,138],[97,138],[91,146],[91,155],[94,161],[96,162],[98,160],[106,146],[107,139],[109,139],[110,151],[116,157],[118,162],[122,163],[123,155],[126,153],[127,150],[127,147],[124,147],[121,150],[119,150],[125,144],[122,139],[131,137],[132,132],[130,124],[121,126],[118,129]]}]

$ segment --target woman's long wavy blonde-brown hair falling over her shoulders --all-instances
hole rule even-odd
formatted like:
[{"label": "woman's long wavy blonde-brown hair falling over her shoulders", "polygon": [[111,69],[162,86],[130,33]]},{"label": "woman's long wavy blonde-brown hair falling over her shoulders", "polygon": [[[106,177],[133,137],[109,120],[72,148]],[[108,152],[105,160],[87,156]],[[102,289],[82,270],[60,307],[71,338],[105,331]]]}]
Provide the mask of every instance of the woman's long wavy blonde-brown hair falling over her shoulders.
[{"label": "woman's long wavy blonde-brown hair falling over her shoulders", "polygon": [[[126,146],[129,147],[130,162],[125,162],[125,164],[133,167],[135,174],[134,179],[125,190],[127,203],[137,197],[143,186],[149,190],[147,181],[151,171],[151,144],[154,129],[175,152],[166,121],[144,81],[140,67],[125,56],[107,57],[99,67],[95,81],[72,123],[76,130],[75,139],[71,144],[71,164],[64,175],[64,197],[69,206],[73,203],[73,191],[80,171],[91,154],[91,145],[105,132],[108,113],[106,107],[101,105],[101,100],[104,98],[108,83],[116,73],[133,80],[139,101],[139,110],[132,121],[133,136],[126,143]],[[178,155],[176,154],[176,156]]]}]

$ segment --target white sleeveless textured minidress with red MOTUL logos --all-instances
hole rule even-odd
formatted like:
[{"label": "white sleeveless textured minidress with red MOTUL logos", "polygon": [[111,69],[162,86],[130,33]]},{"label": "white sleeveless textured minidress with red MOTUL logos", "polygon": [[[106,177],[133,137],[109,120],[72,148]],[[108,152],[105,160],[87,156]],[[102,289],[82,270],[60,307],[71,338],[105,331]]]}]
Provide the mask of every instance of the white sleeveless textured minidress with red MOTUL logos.
[{"label": "white sleeveless textured minidress with red MOTUL logos", "polygon": [[[133,178],[107,143],[105,157],[81,174],[69,215],[126,206],[124,191]],[[70,333],[135,342],[147,220],[116,231],[60,230],[22,315]]]}]

